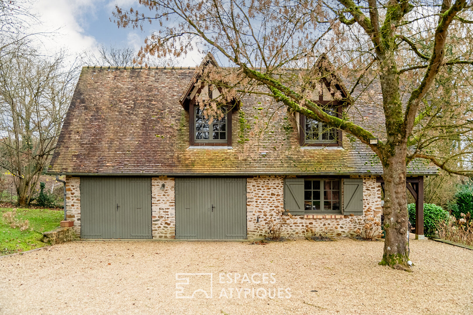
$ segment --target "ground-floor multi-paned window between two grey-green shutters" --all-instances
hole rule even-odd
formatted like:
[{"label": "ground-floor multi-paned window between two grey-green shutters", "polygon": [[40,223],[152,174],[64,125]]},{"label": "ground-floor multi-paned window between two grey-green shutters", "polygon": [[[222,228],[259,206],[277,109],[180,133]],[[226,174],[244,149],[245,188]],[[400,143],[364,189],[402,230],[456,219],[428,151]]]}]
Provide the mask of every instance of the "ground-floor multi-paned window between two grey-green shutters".
[{"label": "ground-floor multi-paned window between two grey-green shutters", "polygon": [[305,213],[342,213],[340,179],[304,180]]}]

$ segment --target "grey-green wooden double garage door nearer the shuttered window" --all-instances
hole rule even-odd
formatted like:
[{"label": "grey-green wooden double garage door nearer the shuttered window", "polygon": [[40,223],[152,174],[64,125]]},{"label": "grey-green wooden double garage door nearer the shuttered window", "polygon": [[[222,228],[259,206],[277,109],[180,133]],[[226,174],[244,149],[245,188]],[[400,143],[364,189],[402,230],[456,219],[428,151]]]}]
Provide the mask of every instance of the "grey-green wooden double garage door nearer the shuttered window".
[{"label": "grey-green wooden double garage door nearer the shuttered window", "polygon": [[176,178],[176,238],[246,238],[246,179]]}]

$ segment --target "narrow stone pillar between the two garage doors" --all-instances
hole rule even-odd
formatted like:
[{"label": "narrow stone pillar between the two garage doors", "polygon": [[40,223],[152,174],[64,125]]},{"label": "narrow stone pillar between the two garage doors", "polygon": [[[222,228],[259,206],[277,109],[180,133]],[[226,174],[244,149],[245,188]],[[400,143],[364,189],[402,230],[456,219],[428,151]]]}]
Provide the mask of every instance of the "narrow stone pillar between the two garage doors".
[{"label": "narrow stone pillar between the two garage doors", "polygon": [[175,238],[174,178],[151,179],[151,212],[153,238]]}]

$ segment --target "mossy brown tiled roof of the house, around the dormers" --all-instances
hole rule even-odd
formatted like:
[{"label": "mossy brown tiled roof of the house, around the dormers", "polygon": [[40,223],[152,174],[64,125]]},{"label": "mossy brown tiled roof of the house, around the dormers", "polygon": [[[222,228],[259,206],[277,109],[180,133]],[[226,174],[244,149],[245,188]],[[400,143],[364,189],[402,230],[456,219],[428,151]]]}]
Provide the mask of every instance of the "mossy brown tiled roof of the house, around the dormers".
[{"label": "mossy brown tiled roof of the house, around the dormers", "polygon": [[[344,149],[300,148],[293,116],[266,96],[246,95],[241,103],[246,124],[232,119],[233,149],[189,148],[189,113],[179,97],[195,68],[84,67],[67,113],[50,173],[157,175],[373,174],[382,167],[368,146],[343,135]],[[350,90],[352,82],[344,80]],[[374,80],[359,85],[367,98],[348,108],[350,119],[383,136],[381,89]],[[263,108],[261,110],[260,108]],[[268,108],[278,111],[264,135],[251,145],[239,140],[258,120],[268,121]],[[268,111],[268,112],[271,112]],[[257,136],[253,136],[255,138]],[[266,152],[266,154],[261,154]],[[411,175],[436,174],[423,160],[410,163]]]}]

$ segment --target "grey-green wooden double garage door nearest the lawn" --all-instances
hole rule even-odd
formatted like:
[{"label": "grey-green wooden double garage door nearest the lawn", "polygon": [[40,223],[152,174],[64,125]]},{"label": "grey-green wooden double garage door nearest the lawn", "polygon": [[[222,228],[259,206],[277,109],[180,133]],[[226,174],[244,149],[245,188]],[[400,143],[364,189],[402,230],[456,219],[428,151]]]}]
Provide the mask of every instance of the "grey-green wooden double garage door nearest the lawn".
[{"label": "grey-green wooden double garage door nearest the lawn", "polygon": [[80,178],[81,238],[151,238],[151,179]]}]

